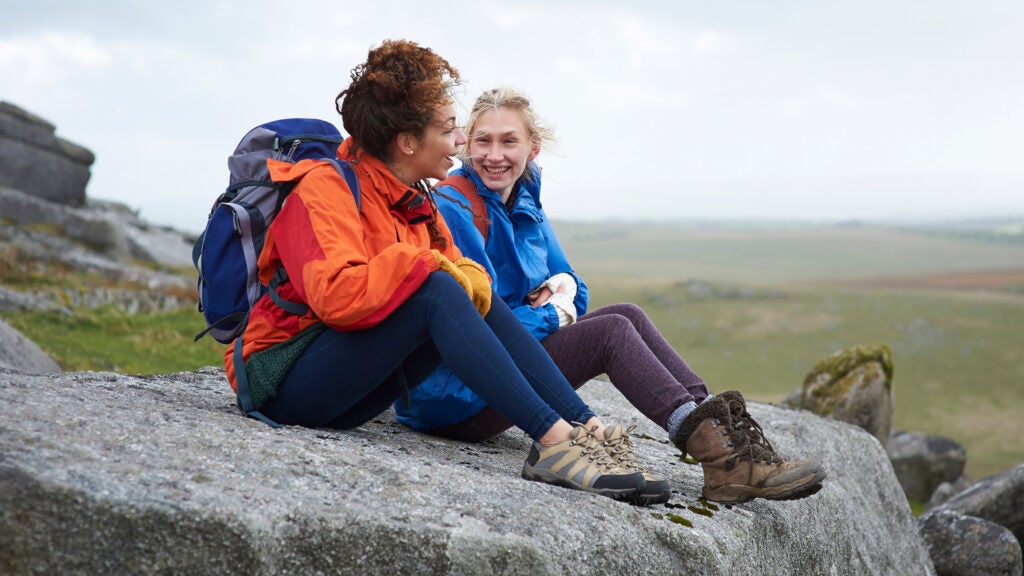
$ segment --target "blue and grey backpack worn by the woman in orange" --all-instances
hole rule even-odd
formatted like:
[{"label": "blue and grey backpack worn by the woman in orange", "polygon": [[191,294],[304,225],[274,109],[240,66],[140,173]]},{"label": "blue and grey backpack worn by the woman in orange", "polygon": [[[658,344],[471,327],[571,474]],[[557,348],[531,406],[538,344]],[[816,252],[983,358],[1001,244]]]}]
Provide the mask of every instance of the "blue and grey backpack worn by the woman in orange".
[{"label": "blue and grey backpack worn by the woman in orange", "polygon": [[[276,287],[288,280],[284,266],[274,274],[269,286],[260,283],[257,260],[263,249],[267,228],[281,210],[295,182],[279,183],[270,179],[268,159],[298,162],[313,159],[330,162],[348,182],[359,205],[359,183],[352,167],[338,160],[342,141],[338,128],[324,120],[291,118],[261,124],[250,130],[227,159],[230,172],[227,190],[213,203],[206,228],[193,247],[193,264],[199,273],[199,311],[206,329],[217,341],[230,343],[246,327],[249,311],[269,292],[270,299],[286,312],[303,315],[308,306],[280,297]],[[239,401],[249,415],[261,415],[246,406],[248,382],[241,362],[242,342],[236,346],[236,374]],[[251,404],[251,402],[250,402]],[[264,419],[265,418],[261,418]]]}]

